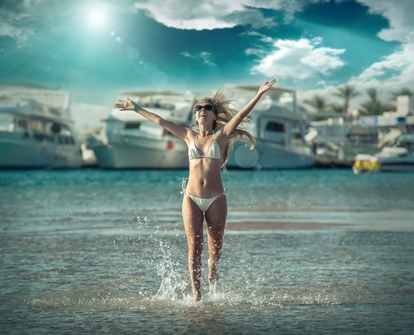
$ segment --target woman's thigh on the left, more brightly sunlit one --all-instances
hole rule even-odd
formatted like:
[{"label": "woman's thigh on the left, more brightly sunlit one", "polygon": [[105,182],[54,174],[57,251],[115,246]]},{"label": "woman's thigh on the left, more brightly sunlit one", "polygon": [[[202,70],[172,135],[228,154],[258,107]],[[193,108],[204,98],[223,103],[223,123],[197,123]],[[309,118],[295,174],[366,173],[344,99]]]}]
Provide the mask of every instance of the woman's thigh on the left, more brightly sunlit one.
[{"label": "woman's thigh on the left, more brightly sunlit one", "polygon": [[184,195],[182,213],[188,245],[202,243],[204,215],[188,195]]}]

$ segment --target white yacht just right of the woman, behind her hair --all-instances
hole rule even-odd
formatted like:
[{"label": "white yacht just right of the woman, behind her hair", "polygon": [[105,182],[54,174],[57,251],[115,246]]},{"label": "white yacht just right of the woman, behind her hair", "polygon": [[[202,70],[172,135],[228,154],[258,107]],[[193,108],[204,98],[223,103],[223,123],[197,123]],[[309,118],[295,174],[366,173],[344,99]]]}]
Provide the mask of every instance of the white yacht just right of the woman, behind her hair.
[{"label": "white yacht just right of the woman, behind her hair", "polygon": [[[231,95],[245,105],[257,90],[255,86],[239,87],[233,89]],[[307,121],[296,112],[294,90],[271,88],[248,117],[252,122],[247,128],[255,136],[255,148],[250,150],[250,145],[235,142],[226,163],[229,170],[287,170],[313,166],[316,158],[304,139]]]}]

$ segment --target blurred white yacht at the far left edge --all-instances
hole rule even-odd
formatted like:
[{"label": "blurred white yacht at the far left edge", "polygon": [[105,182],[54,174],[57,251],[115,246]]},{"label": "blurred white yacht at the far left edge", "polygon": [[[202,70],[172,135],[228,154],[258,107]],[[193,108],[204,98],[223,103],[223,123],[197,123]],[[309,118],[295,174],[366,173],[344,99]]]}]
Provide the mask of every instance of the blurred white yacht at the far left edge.
[{"label": "blurred white yacht at the far left edge", "polygon": [[0,86],[0,168],[68,168],[82,164],[68,92]]}]

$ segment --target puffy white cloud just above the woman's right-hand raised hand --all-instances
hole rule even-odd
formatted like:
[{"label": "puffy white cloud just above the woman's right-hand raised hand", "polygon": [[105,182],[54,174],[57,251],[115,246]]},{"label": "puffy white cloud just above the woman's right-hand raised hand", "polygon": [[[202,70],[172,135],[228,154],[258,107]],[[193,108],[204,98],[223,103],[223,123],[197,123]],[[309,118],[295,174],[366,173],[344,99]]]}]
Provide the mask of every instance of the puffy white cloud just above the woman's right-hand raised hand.
[{"label": "puffy white cloud just above the woman's right-hand raised hand", "polygon": [[318,47],[322,39],[278,39],[273,46],[275,50],[252,68],[253,73],[266,77],[308,79],[315,74],[329,75],[331,70],[341,68],[345,62],[339,54],[345,49]]}]

